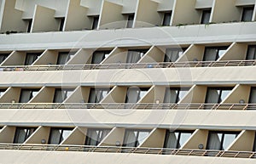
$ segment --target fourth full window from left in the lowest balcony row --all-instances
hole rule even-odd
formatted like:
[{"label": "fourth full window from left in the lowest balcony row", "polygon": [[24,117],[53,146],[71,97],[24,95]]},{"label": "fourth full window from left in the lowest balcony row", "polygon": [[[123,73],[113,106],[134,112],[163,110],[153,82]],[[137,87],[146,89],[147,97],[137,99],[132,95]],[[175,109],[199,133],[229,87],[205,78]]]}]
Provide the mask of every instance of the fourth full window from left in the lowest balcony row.
[{"label": "fourth full window from left in the lowest balcony row", "polygon": [[148,137],[150,130],[126,129],[124,144],[125,147],[137,147]]}]

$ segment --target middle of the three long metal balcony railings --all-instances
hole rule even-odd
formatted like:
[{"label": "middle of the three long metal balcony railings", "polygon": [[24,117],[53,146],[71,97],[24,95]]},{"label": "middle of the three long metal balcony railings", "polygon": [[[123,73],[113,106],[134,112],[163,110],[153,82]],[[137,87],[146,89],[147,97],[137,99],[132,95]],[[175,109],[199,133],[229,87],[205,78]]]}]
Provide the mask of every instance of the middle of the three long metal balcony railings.
[{"label": "middle of the three long metal balcony railings", "polygon": [[256,104],[0,103],[0,109],[256,110]]}]

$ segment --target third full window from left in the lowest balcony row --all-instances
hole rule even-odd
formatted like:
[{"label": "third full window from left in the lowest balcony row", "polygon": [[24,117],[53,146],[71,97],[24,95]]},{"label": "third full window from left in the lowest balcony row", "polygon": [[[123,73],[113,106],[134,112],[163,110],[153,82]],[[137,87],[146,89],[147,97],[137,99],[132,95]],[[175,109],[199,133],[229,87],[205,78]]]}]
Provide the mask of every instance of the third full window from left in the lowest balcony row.
[{"label": "third full window from left in the lowest balcony row", "polygon": [[88,129],[85,145],[98,145],[108,135],[110,129]]}]

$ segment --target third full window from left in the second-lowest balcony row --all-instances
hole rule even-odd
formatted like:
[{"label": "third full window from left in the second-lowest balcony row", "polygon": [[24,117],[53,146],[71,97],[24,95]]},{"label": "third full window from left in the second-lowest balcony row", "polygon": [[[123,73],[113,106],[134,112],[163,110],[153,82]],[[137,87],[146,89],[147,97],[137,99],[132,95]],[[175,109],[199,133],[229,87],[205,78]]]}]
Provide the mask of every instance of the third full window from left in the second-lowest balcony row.
[{"label": "third full window from left in the second-lowest balcony row", "polygon": [[88,103],[99,103],[104,99],[111,88],[90,88],[90,96]]}]

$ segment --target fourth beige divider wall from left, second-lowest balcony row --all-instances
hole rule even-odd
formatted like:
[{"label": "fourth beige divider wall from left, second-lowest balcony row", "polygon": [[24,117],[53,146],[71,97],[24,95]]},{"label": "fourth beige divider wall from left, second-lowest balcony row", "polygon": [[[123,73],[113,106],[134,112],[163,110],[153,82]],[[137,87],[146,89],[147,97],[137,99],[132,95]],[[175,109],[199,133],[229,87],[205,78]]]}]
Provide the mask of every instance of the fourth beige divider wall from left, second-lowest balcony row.
[{"label": "fourth beige divider wall from left, second-lowest balcony row", "polygon": [[101,103],[124,103],[126,97],[125,87],[114,86]]}]

